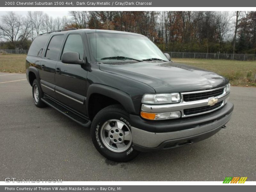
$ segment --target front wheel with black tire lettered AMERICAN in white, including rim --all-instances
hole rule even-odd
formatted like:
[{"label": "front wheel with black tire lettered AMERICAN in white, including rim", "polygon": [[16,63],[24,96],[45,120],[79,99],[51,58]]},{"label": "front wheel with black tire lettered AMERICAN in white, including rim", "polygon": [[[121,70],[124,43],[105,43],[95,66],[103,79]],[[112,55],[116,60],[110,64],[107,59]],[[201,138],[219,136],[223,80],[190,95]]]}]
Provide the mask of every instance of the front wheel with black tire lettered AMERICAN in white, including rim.
[{"label": "front wheel with black tire lettered AMERICAN in white, including rim", "polygon": [[127,162],[139,154],[132,145],[129,114],[121,105],[111,105],[97,113],[91,136],[95,148],[109,160]]}]

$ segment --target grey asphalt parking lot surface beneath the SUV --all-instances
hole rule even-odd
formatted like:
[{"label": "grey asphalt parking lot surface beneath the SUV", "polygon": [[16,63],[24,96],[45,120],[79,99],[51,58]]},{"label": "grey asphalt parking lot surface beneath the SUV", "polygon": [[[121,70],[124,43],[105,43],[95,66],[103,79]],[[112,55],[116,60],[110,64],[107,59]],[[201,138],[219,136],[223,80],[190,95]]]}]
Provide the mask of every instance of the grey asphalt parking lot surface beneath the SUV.
[{"label": "grey asphalt parking lot surface beneath the SUV", "polygon": [[111,162],[90,130],[50,107],[37,108],[25,74],[0,73],[0,180],[223,181],[256,180],[256,88],[231,87],[235,109],[226,129],[189,146]]}]

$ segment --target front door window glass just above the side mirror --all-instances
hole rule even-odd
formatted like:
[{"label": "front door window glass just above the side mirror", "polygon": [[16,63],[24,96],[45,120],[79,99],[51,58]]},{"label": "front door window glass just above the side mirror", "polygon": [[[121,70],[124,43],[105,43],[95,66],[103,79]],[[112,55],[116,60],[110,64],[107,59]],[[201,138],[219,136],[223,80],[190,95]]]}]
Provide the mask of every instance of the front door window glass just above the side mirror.
[{"label": "front door window glass just above the side mirror", "polygon": [[65,43],[63,53],[64,52],[78,52],[79,59],[83,59],[84,46],[83,46],[82,37],[78,34],[70,34]]}]

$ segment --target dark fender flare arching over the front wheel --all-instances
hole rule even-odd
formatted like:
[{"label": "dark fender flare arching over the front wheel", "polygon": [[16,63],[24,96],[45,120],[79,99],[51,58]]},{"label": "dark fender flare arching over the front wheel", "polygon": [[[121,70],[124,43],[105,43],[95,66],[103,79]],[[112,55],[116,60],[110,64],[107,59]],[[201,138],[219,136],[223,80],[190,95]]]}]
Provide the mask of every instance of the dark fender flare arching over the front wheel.
[{"label": "dark fender flare arching over the front wheel", "polygon": [[110,97],[116,101],[118,101],[126,111],[129,113],[135,113],[135,108],[132,102],[132,98],[127,93],[115,89],[113,87],[109,87],[102,84],[91,84],[87,90],[87,97],[86,97],[86,112],[89,115],[89,99],[93,93],[98,93],[107,97]]}]

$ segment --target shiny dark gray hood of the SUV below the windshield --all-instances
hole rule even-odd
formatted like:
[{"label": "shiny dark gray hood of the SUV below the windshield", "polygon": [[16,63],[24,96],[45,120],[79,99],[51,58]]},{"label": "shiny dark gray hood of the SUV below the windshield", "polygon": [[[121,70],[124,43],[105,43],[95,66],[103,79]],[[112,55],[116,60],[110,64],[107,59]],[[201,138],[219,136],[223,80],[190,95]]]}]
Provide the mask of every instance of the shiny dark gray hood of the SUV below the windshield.
[{"label": "shiny dark gray hood of the SUV below the windshield", "polygon": [[156,93],[208,90],[228,84],[227,79],[216,73],[173,62],[106,62],[100,64],[100,70],[140,81]]}]

